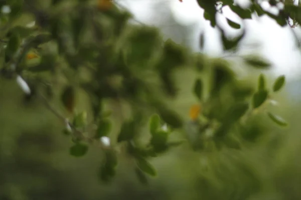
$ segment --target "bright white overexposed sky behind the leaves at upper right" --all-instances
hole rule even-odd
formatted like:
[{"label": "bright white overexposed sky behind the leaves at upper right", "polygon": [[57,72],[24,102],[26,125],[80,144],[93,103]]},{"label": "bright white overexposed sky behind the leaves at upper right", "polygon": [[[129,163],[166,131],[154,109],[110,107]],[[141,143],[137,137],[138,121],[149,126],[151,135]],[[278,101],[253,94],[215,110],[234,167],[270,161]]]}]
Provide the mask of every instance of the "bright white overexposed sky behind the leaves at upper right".
[{"label": "bright white overexposed sky behind the leaves at upper right", "polygon": [[[156,0],[120,0],[127,6],[135,15],[137,20],[145,22],[147,24],[153,24],[152,15],[156,14],[153,2]],[[192,45],[192,49],[200,51],[199,39],[200,33],[205,31],[205,43],[204,51],[211,56],[222,55],[222,44],[220,41],[220,33],[210,25],[210,21],[203,18],[203,9],[199,7],[196,0],[162,0],[169,2],[172,12],[176,20],[182,25],[193,24],[193,40],[195,42]],[[157,1],[156,1],[157,2]],[[235,3],[248,7],[250,0],[235,0]],[[298,0],[294,0],[294,4],[297,4]],[[278,9],[281,8],[280,4],[277,6],[270,6],[270,4],[262,0],[262,6],[267,11],[276,14]],[[254,48],[249,51],[262,53],[263,57],[267,57],[272,61],[273,70],[271,72],[275,75],[285,74],[287,78],[298,78],[300,75],[299,63],[301,63],[301,53],[296,48],[294,38],[289,30],[288,26],[281,27],[273,19],[267,15],[258,17],[256,14],[252,15],[252,19],[244,20],[241,23],[241,19],[232,12],[230,8],[223,8],[224,16],[217,15],[217,20],[222,23],[228,36],[235,36],[240,33],[240,29],[234,29],[230,27],[226,19],[227,17],[234,22],[244,25],[246,29],[245,38],[241,42],[241,47],[244,51],[248,51],[249,47],[247,43],[258,43],[260,47]],[[300,26],[300,25],[299,25]],[[300,33],[299,27],[294,28],[294,31]],[[245,47],[246,46],[246,47]]]}]

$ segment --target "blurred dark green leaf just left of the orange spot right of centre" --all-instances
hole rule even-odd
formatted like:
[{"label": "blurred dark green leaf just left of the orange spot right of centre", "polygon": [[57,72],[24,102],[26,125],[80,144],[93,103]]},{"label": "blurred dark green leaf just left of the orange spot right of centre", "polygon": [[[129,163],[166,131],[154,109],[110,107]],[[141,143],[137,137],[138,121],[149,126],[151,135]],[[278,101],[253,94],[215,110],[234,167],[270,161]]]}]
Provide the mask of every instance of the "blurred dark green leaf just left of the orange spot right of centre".
[{"label": "blurred dark green leaf just left of the orange spot right of centre", "polygon": [[183,121],[177,113],[163,107],[161,107],[158,111],[163,121],[165,121],[167,124],[174,128],[182,127]]}]

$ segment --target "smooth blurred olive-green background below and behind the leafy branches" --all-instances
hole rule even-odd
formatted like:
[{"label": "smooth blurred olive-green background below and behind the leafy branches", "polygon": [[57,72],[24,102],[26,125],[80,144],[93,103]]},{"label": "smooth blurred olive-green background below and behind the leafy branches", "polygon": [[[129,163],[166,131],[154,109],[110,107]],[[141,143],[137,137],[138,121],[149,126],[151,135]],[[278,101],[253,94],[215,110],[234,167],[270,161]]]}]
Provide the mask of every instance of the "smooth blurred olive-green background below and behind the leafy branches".
[{"label": "smooth blurred olive-green background below and behind the leafy branches", "polygon": [[[173,28],[169,31],[163,26],[166,37],[189,46],[187,27],[170,23]],[[250,72],[245,78],[253,83],[259,72]],[[171,104],[188,118],[189,107],[196,103],[191,92],[196,74],[182,69],[175,75],[180,96]],[[271,84],[273,78],[269,80]],[[82,158],[70,156],[72,141],[62,133],[64,124],[38,100],[26,101],[15,80],[1,79],[0,199],[301,199],[299,84],[299,80],[288,80],[274,98],[279,106],[269,108],[286,118],[288,128],[277,127],[259,113],[252,119],[260,128],[250,130],[259,136],[242,150],[193,152],[183,144],[150,160],[158,176],[141,185],[134,163],[122,155],[114,180],[100,182],[101,150],[95,145]],[[85,94],[79,94],[78,100],[84,108]],[[113,117],[118,117],[117,111]],[[112,137],[119,126],[114,123]]]}]

